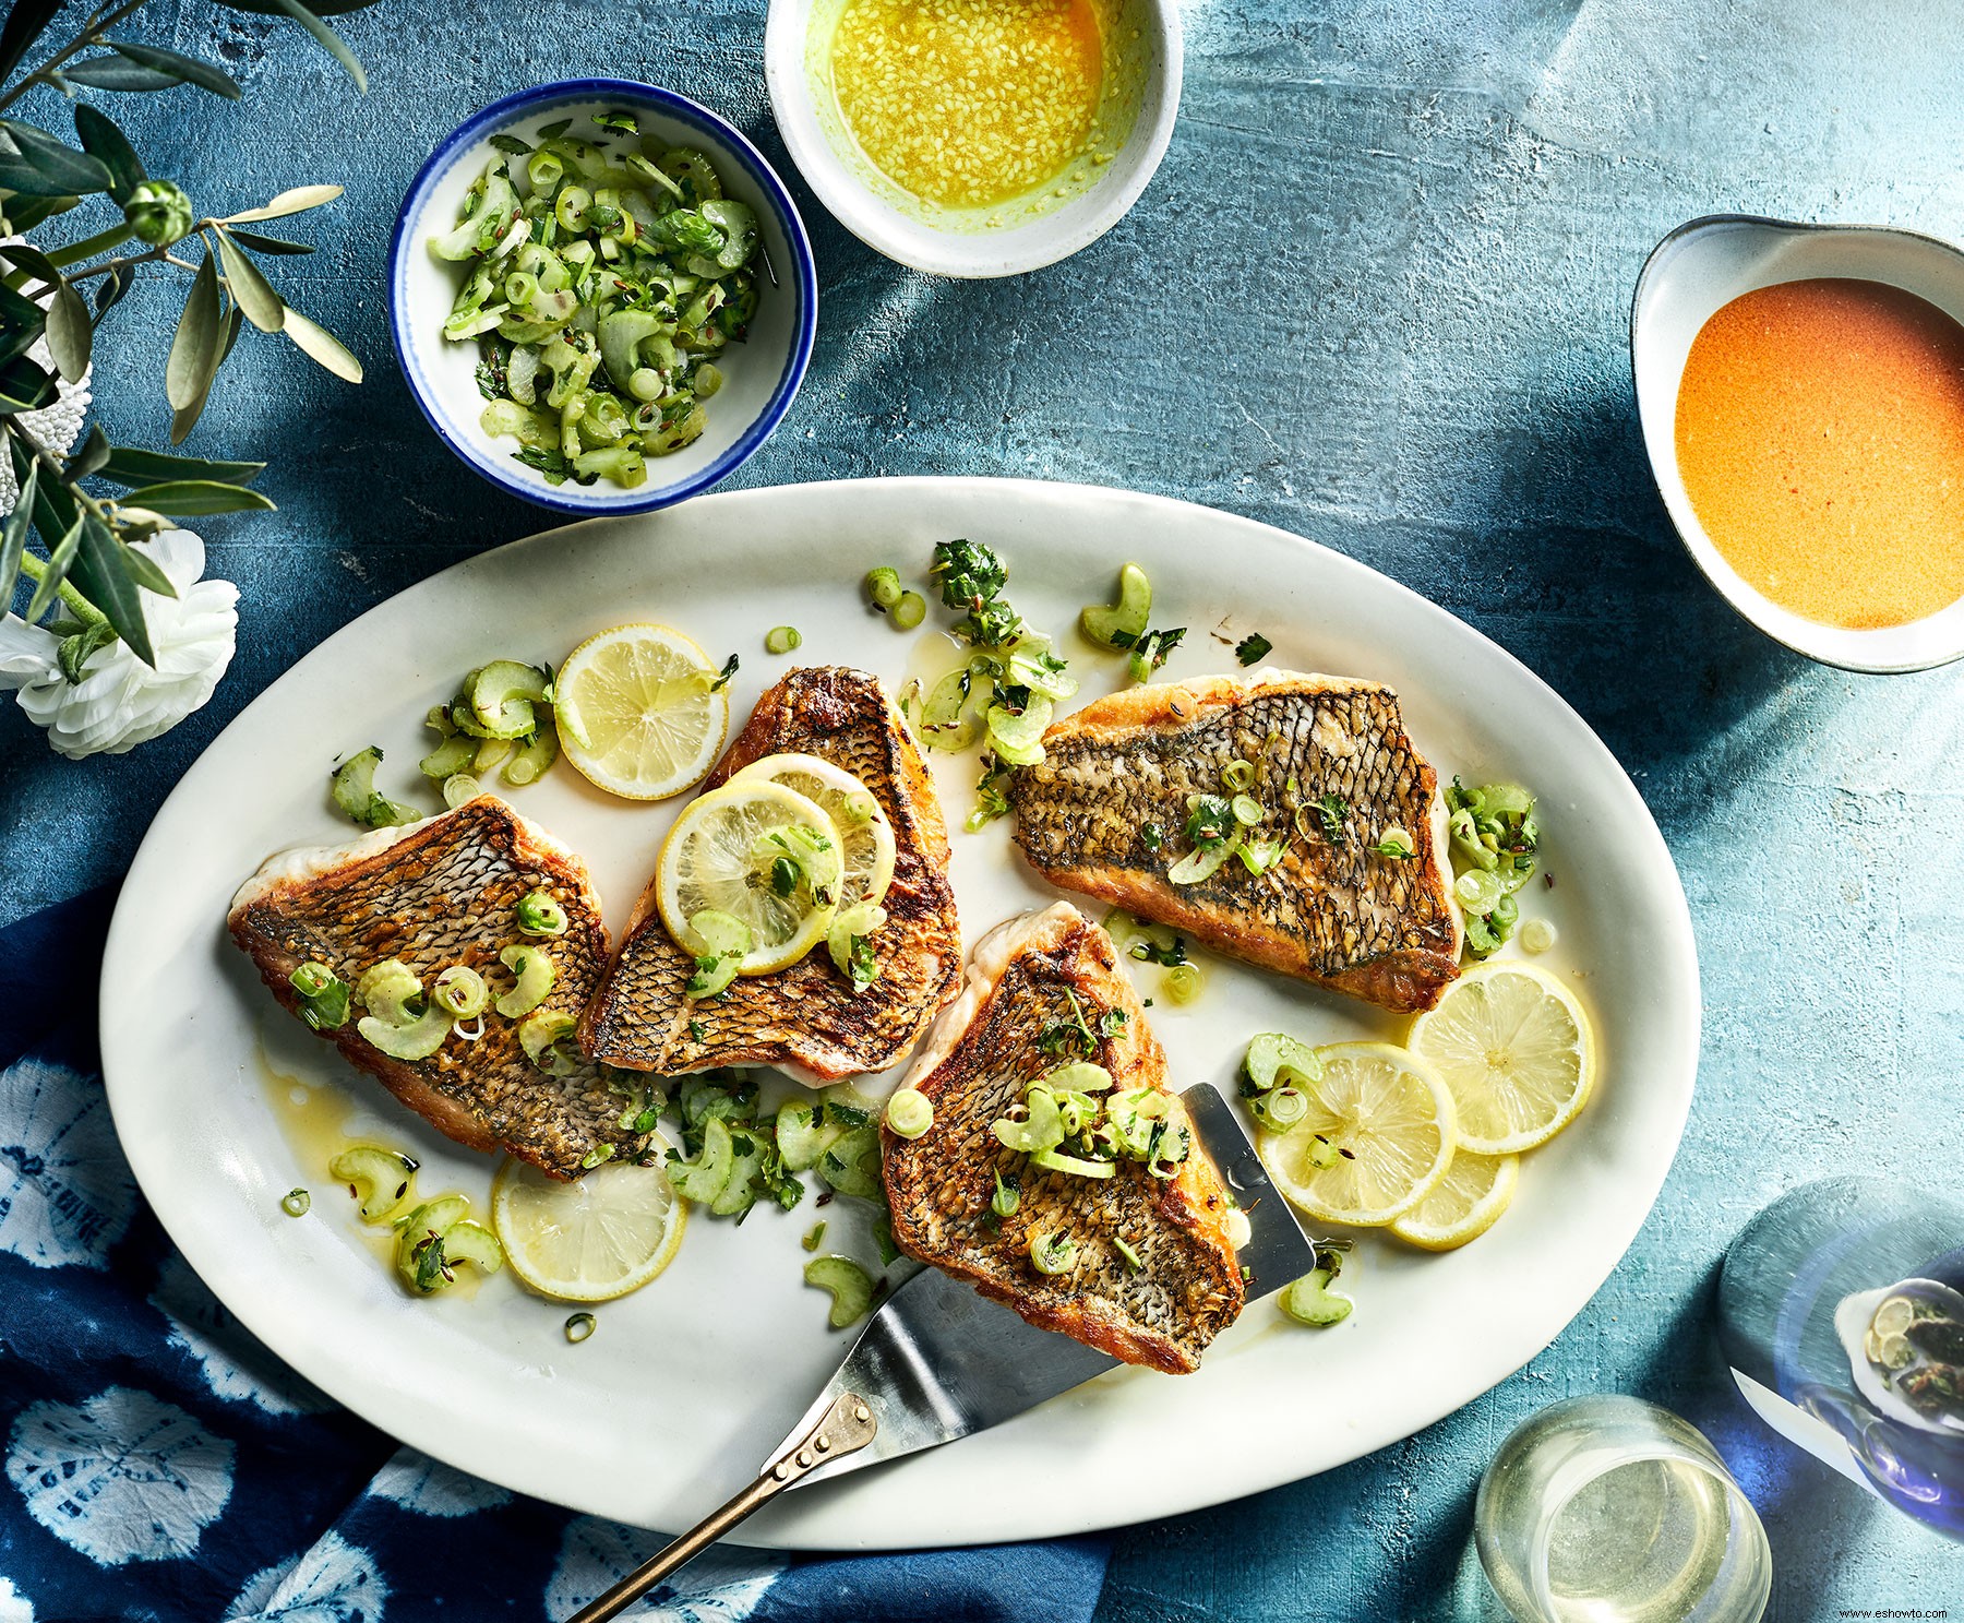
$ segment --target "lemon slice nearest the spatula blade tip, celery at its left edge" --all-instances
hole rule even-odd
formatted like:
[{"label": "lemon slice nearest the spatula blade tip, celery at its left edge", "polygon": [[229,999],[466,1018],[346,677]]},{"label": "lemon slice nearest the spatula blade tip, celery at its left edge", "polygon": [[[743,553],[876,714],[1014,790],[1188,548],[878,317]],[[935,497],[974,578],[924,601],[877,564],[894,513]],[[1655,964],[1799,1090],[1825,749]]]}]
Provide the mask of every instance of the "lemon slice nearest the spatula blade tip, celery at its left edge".
[{"label": "lemon slice nearest the spatula blade tip, celery at its left edge", "polygon": [[1263,1165],[1310,1216],[1383,1228],[1446,1177],[1453,1096],[1424,1059],[1391,1043],[1337,1043],[1316,1057],[1324,1075],[1296,1081],[1308,1114],[1261,1134]]}]

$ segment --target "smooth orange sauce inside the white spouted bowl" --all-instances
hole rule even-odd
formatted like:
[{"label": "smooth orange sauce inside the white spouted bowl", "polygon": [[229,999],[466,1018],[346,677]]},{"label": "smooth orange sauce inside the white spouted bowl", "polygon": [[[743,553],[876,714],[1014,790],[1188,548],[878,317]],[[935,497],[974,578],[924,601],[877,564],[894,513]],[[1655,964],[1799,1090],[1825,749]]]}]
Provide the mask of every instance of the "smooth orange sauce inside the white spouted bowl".
[{"label": "smooth orange sauce inside the white spouted bowl", "polygon": [[1964,326],[1880,281],[1762,287],[1699,330],[1677,472],[1726,562],[1823,625],[1964,597]]}]

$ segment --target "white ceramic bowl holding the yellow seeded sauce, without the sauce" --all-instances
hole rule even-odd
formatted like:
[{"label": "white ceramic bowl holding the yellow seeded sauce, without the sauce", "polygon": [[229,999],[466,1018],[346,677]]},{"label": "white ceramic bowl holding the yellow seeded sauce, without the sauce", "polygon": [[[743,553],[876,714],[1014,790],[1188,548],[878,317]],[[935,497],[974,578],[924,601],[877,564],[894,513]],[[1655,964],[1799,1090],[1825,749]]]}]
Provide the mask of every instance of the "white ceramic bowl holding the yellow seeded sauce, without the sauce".
[{"label": "white ceramic bowl holding the yellow seeded sauce, without the sauce", "polygon": [[[1174,0],[1118,0],[1139,110],[1104,175],[1057,206],[1004,228],[937,224],[860,155],[829,81],[813,73],[811,20],[827,0],[770,0],[764,77],[791,161],[839,222],[888,259],[945,277],[1011,277],[1066,259],[1137,202],[1173,140],[1180,108],[1180,14]],[[1131,35],[1137,33],[1135,39]],[[1131,75],[1127,75],[1131,79]]]}]

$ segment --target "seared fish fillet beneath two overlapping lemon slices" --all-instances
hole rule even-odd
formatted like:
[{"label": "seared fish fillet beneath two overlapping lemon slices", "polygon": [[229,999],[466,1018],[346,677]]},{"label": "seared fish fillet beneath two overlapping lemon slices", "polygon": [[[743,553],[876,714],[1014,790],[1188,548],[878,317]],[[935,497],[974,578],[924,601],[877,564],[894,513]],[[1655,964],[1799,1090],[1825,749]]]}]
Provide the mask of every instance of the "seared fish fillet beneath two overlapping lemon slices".
[{"label": "seared fish fillet beneath two overlapping lemon slices", "polygon": [[870,937],[880,979],[858,996],[821,947],[778,975],[689,998],[695,961],[662,925],[648,880],[607,984],[579,1026],[593,1059],[664,1077],[776,1065],[807,1083],[884,1071],[960,982],[962,929],[949,886],[949,831],[905,721],[862,670],[793,670],[758,700],[705,788],[766,755],[817,755],[852,772],[894,825],[886,923]]}]

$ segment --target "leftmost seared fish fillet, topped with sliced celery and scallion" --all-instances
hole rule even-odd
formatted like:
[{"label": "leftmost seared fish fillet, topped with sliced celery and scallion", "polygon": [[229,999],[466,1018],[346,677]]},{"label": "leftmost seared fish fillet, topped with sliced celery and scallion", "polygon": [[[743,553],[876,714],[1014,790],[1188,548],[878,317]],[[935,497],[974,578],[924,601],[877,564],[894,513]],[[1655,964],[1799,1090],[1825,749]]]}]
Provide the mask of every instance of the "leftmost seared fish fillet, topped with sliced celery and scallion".
[{"label": "leftmost seared fish fillet, topped with sliced celery and scallion", "polygon": [[[532,890],[566,910],[564,935],[520,935],[515,908]],[[495,796],[350,845],[283,853],[240,888],[230,925],[293,1014],[300,996],[289,977],[308,961],[354,986],[373,965],[401,959],[426,988],[462,963],[497,994],[511,984],[499,949],[528,941],[558,969],[542,1008],[568,1014],[593,996],[607,963],[585,865]],[[646,1146],[646,1136],[621,1128],[627,1100],[591,1065],[554,1077],[526,1059],[515,1020],[487,1010],[479,1041],[450,1037],[430,1059],[405,1061],[361,1035],[365,1012],[354,1000],[348,1024],[322,1035],[458,1144],[509,1149],[562,1179],[579,1177],[593,1151],[636,1155]]]}]

